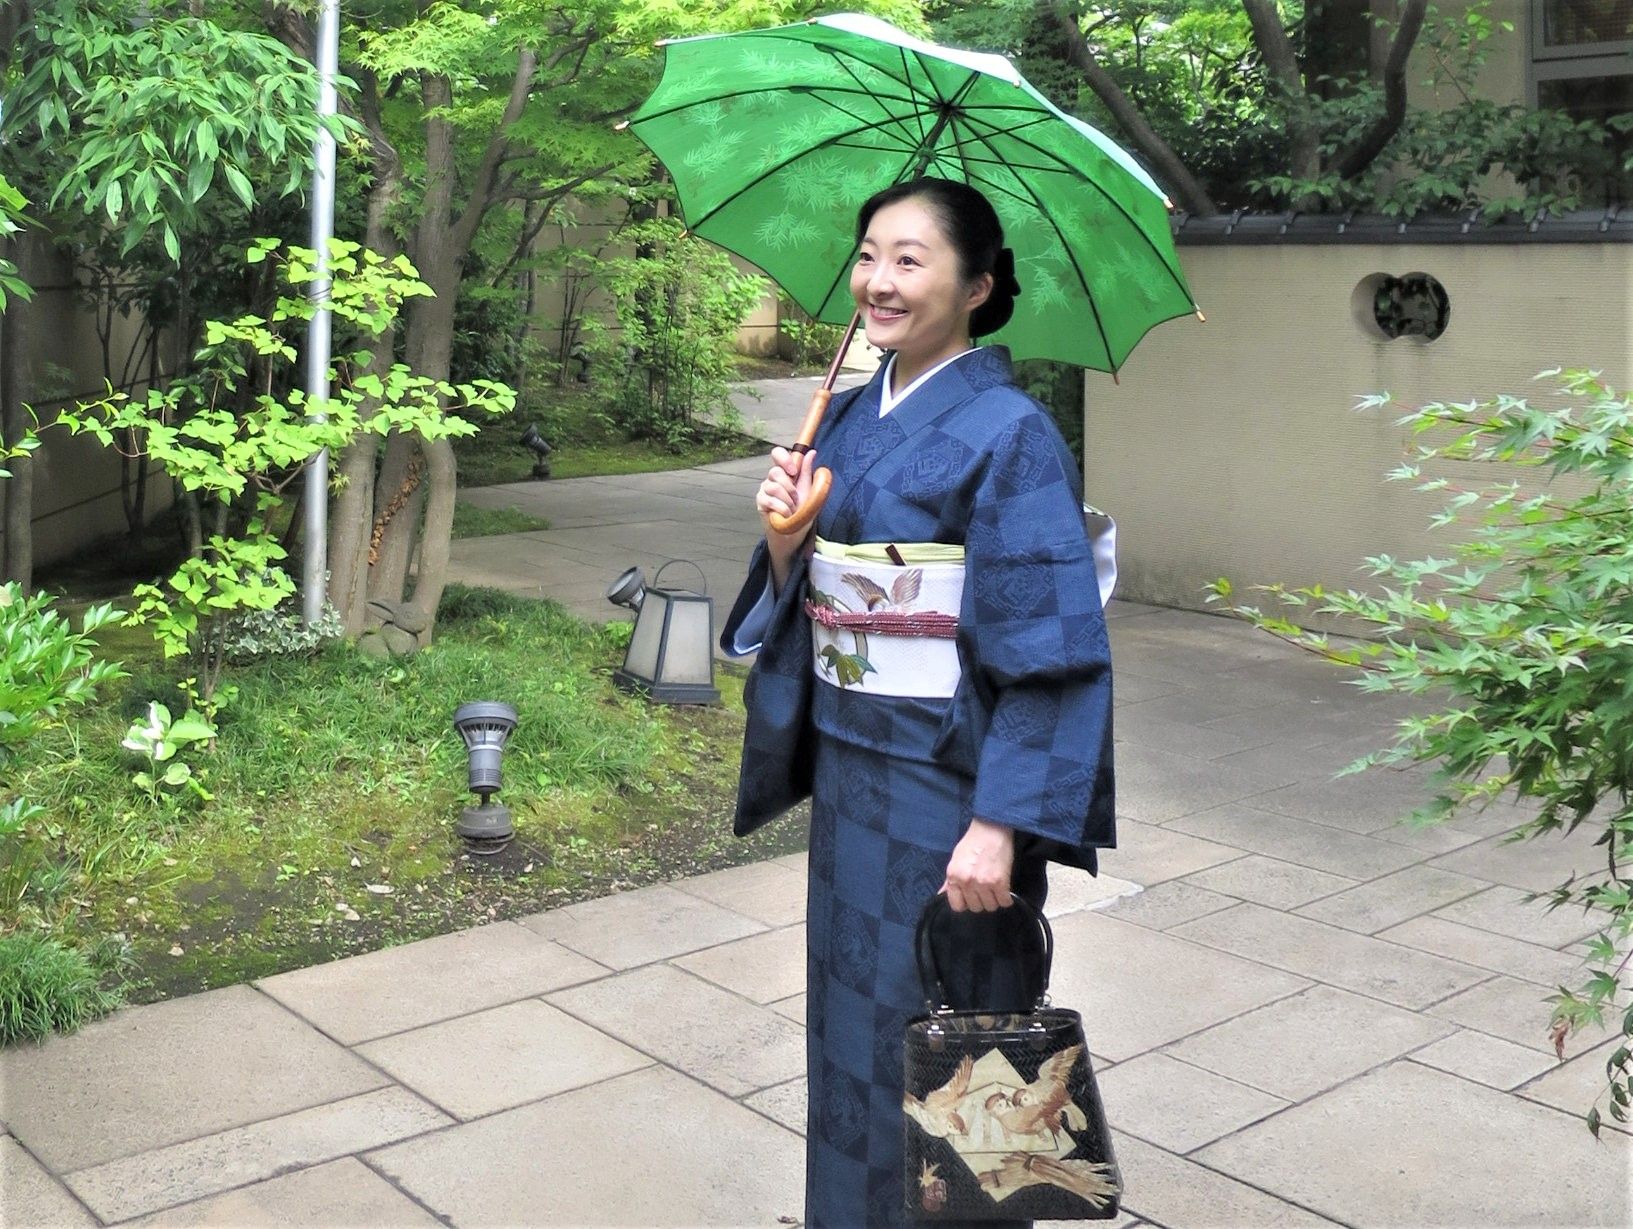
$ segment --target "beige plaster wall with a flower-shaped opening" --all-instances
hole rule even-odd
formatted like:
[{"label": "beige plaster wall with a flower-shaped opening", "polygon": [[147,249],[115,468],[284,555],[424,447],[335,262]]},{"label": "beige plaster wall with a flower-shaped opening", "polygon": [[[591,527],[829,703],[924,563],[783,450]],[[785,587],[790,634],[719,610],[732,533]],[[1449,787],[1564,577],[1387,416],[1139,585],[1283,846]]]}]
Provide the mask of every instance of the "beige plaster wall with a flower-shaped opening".
[{"label": "beige plaster wall with a flower-shaped opening", "polygon": [[[1406,402],[1540,392],[1548,367],[1633,380],[1633,246],[1182,246],[1207,323],[1155,330],[1120,385],[1091,375],[1086,495],[1119,522],[1119,594],[1204,607],[1204,586],[1360,586],[1360,561],[1419,558],[1439,501],[1385,473],[1406,450]],[[1350,295],[1372,273],[1447,289],[1434,343],[1364,331]]]}]

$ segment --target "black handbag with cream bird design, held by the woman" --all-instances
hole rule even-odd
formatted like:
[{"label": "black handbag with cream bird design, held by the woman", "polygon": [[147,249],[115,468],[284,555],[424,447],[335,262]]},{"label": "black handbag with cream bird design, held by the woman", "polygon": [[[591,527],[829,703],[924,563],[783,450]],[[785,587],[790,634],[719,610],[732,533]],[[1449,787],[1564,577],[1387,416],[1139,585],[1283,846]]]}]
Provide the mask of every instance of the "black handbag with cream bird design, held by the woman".
[{"label": "black handbag with cream bird design, held by the woman", "polygon": [[1122,1203],[1083,1017],[1048,1005],[1055,935],[1043,935],[1042,991],[1030,1012],[947,1005],[932,943],[937,894],[914,938],[926,1014],[908,1022],[906,1211],[916,1221],[1109,1221]]}]

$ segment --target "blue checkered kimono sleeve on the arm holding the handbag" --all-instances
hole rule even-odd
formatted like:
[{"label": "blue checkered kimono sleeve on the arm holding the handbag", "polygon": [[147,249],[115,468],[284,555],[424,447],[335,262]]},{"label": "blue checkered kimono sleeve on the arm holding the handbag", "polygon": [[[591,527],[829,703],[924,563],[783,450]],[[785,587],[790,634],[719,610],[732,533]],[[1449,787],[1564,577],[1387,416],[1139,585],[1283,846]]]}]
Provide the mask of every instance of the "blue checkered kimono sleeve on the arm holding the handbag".
[{"label": "blue checkered kimono sleeve on the arm holding the handbag", "polygon": [[[1076,465],[1042,413],[994,439],[965,565],[965,650],[991,712],[975,814],[1066,850],[1114,844],[1110,645]],[[1083,863],[1066,850],[1050,857]]]}]

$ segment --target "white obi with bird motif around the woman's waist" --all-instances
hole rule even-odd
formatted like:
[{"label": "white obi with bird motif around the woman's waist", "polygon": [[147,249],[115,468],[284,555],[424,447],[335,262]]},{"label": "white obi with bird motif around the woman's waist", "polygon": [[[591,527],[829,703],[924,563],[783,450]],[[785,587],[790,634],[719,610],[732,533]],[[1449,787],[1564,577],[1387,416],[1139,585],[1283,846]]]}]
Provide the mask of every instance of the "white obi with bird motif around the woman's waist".
[{"label": "white obi with bird motif around the woman's waist", "polygon": [[[805,592],[807,610],[813,615],[816,677],[864,695],[950,699],[960,668],[957,643],[947,633],[963,602],[963,563],[897,565],[865,558],[879,550],[816,542]],[[962,558],[963,552],[939,547],[937,553]],[[874,615],[877,625],[828,627],[823,610],[841,620]]]}]

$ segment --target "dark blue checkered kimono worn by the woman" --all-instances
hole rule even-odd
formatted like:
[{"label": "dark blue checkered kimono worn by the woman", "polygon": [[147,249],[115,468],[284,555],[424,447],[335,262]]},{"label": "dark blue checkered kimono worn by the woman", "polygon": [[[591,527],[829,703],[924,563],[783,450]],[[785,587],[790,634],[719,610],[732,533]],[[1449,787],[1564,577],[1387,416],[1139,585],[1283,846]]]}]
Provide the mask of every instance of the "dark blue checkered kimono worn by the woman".
[{"label": "dark blue checkered kimono worn by the woman", "polygon": [[[950,700],[865,695],[813,676],[795,561],[748,682],[736,832],[812,798],[807,916],[807,1224],[905,1221],[901,1033],[923,1010],[913,927],[970,816],[1016,829],[1014,890],[1047,860],[1094,870],[1115,844],[1112,676],[1076,465],[1009,356],[954,361],[879,416],[883,370],[836,397],[816,437],[833,542],[965,547]],[[759,547],[722,643],[766,592]],[[1016,914],[942,935],[955,1005],[1024,1007],[1032,937]]]}]

